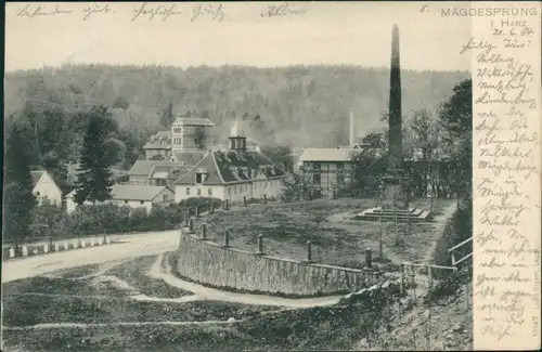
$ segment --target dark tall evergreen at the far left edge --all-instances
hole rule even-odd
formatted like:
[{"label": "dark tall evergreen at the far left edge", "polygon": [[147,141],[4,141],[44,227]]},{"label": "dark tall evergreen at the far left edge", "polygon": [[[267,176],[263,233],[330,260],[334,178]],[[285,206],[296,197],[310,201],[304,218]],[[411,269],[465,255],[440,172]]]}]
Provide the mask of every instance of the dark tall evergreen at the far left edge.
[{"label": "dark tall evergreen at the far left edge", "polygon": [[4,237],[13,238],[17,248],[21,242],[30,236],[30,218],[36,206],[30,173],[29,132],[29,128],[18,123],[7,130]]}]

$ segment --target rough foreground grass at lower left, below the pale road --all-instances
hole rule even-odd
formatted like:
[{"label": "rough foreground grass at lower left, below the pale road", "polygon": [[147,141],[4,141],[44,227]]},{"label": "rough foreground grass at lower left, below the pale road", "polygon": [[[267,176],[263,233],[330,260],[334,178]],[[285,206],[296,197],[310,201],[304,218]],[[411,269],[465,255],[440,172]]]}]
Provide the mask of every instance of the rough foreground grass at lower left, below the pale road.
[{"label": "rough foreground grass at lower left, below the pale road", "polygon": [[[196,301],[186,303],[163,302],[166,294],[180,297],[191,294],[167,286],[134,273],[156,261],[156,257],[144,257],[118,265],[106,272],[125,274],[133,279],[143,294],[155,297],[154,302],[138,302],[128,299],[134,294],[113,285],[104,285],[93,278],[73,279],[76,275],[89,274],[96,265],[81,266],[73,271],[62,271],[66,278],[30,277],[2,285],[3,324],[24,326],[39,323],[109,323],[109,322],[194,322],[208,320],[225,321],[230,317],[242,318],[261,311],[275,310],[274,307],[242,305],[228,302]],[[119,275],[120,278],[121,275]],[[139,282],[138,282],[139,281]],[[139,286],[138,286],[139,285]]]}]

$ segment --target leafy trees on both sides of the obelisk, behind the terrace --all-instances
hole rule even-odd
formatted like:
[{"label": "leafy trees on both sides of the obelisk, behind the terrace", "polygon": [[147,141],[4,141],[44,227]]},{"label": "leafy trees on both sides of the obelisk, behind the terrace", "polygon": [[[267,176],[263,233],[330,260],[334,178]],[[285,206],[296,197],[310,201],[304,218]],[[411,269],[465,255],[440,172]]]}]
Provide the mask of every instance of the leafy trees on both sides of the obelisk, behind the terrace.
[{"label": "leafy trees on both sides of the obelisk, behind the terrace", "polygon": [[[403,118],[405,191],[414,197],[433,192],[437,197],[459,196],[470,201],[472,81],[453,88],[436,114],[426,109]],[[387,170],[387,129],[367,133],[369,148],[352,155],[352,190],[377,190]],[[433,162],[431,161],[438,161]]]}]

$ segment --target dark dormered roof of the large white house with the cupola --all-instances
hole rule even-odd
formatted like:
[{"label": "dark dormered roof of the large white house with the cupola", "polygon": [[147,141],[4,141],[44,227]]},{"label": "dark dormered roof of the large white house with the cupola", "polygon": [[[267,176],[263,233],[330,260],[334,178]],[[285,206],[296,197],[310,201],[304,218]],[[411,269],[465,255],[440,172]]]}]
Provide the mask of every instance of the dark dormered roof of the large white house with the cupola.
[{"label": "dark dormered roof of the large white house with the cupola", "polygon": [[205,170],[204,185],[248,182],[251,180],[280,178],[285,173],[258,151],[247,151],[246,155],[234,151],[211,151],[176,184],[194,184],[197,170]]}]

